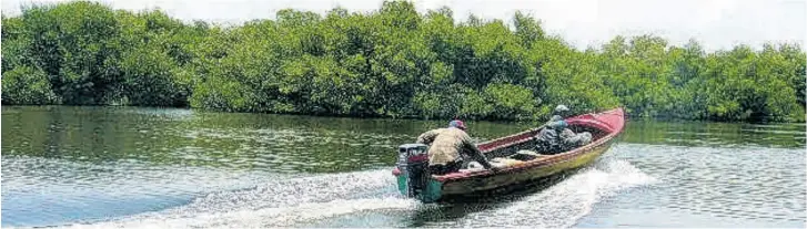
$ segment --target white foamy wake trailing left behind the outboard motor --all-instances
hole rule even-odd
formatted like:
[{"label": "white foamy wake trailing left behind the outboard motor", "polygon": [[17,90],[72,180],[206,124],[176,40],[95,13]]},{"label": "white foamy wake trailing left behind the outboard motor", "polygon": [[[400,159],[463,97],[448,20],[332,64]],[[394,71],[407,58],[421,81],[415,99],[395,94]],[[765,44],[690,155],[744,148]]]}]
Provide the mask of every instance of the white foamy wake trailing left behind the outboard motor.
[{"label": "white foamy wake trailing left behind the outboard motor", "polygon": [[61,228],[266,228],[383,209],[413,209],[395,192],[389,169],[300,177],[210,194],[157,212]]}]

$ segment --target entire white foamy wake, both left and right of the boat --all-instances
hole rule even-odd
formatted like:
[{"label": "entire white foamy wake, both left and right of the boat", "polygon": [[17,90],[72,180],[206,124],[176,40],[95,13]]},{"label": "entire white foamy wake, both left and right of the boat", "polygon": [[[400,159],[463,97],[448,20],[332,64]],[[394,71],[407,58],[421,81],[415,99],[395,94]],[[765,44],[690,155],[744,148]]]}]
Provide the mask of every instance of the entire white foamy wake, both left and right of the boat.
[{"label": "entire white foamy wake, both left and right of the boat", "polygon": [[[624,160],[603,159],[575,175],[518,198],[495,204],[422,205],[400,197],[389,169],[279,178],[258,187],[208,194],[190,204],[107,221],[58,228],[272,228],[333,221],[366,227],[572,227],[604,197],[655,183]],[[448,205],[451,206],[451,205]],[[462,212],[452,212],[452,211]],[[334,219],[347,219],[335,220]],[[361,221],[361,220],[360,220]],[[324,225],[333,225],[327,222]],[[346,223],[346,225],[344,225]]]}]

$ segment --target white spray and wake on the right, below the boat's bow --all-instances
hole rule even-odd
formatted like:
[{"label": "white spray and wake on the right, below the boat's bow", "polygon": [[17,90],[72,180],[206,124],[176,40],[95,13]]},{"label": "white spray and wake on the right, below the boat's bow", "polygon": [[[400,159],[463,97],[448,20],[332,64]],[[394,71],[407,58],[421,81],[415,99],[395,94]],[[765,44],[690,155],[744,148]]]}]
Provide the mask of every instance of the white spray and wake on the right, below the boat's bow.
[{"label": "white spray and wake on the right, below the boat's bow", "polygon": [[474,212],[463,227],[568,228],[591,212],[603,198],[650,185],[657,179],[625,160],[604,159],[539,192],[525,196],[490,212]]}]

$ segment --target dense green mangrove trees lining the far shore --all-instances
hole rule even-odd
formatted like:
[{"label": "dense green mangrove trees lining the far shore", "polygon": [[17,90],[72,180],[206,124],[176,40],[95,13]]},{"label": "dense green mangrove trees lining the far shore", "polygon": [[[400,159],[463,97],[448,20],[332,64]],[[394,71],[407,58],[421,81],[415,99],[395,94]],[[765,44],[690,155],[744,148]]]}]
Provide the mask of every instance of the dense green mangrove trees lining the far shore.
[{"label": "dense green mangrove trees lining the far shore", "polygon": [[805,122],[799,44],[706,52],[616,37],[576,50],[533,17],[281,10],[236,27],[97,2],[2,18],[3,105],[125,105],[316,116],[545,119],[623,106],[632,117]]}]

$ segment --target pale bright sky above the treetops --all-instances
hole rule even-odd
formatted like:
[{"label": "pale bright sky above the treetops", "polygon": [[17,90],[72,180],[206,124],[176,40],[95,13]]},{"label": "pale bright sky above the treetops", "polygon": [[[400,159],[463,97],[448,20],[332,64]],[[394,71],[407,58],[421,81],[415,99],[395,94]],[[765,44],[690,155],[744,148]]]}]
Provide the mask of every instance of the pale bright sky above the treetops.
[{"label": "pale bright sky above the treetops", "polygon": [[[2,0],[2,13],[20,6],[65,0]],[[115,9],[161,9],[182,20],[239,24],[274,19],[282,9],[325,13],[335,7],[377,10],[383,0],[99,0]],[[457,21],[470,14],[511,22],[521,10],[539,19],[549,34],[578,49],[598,48],[616,35],[653,34],[670,44],[694,39],[709,51],[766,42],[805,46],[806,0],[413,0],[420,12],[448,7]]]}]

